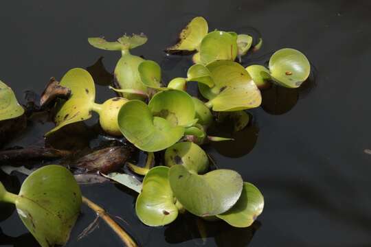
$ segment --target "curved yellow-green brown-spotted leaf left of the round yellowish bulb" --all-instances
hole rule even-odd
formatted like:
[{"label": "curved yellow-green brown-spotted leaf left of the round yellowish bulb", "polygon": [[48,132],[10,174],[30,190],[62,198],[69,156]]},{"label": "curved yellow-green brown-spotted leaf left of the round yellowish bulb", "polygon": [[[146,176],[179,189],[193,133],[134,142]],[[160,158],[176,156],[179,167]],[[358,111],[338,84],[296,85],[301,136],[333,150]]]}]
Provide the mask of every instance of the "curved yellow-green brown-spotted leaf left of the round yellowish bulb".
[{"label": "curved yellow-green brown-spotted leaf left of the round yellowish bulb", "polygon": [[84,121],[91,117],[95,101],[95,86],[93,78],[85,69],[71,69],[60,80],[60,86],[71,89],[71,97],[60,100],[54,121],[56,127],[45,134],[51,134],[67,124]]}]

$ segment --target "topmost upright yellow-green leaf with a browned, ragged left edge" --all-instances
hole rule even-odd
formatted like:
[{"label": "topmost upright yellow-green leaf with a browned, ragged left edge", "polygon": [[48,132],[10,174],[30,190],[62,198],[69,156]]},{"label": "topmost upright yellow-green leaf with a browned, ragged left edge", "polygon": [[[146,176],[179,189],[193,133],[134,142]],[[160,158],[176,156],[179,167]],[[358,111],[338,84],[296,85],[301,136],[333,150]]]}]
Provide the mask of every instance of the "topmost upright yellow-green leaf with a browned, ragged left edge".
[{"label": "topmost upright yellow-green leaf with a browned, ragged left edge", "polygon": [[169,47],[168,51],[194,51],[199,48],[201,40],[207,34],[209,27],[207,21],[197,16],[188,25],[181,30],[179,41],[176,45]]}]

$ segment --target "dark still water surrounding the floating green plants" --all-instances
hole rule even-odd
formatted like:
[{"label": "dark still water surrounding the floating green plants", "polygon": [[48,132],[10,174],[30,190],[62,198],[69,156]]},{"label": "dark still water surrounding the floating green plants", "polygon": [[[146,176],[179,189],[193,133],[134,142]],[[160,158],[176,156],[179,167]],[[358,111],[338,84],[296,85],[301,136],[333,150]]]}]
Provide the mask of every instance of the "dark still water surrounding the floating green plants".
[{"label": "dark still water surrounding the floating green plants", "polygon": [[[249,111],[254,124],[240,134],[246,143],[230,144],[234,154],[207,149],[219,167],[236,169],[264,194],[265,210],[253,227],[207,225],[211,237],[204,242],[187,216],[162,228],[144,226],[135,216],[135,195],[120,187],[82,191],[122,217],[141,246],[371,246],[371,155],[364,152],[371,148],[370,1],[43,0],[0,6],[0,78],[19,99],[25,90],[40,93],[50,77],[89,67],[100,56],[113,71],[120,54],[94,49],[89,36],[144,32],[148,43],[133,54],[161,63],[164,78],[184,76],[190,59],[170,59],[162,50],[196,15],[205,16],[211,29],[255,27],[263,46],[246,64],[264,62],[265,54],[282,47],[304,52],[316,68],[315,82],[299,92],[266,93],[262,108]],[[105,86],[97,91],[98,102],[113,95]],[[42,143],[52,124],[40,120],[8,146]],[[0,220],[6,213],[1,211]],[[93,218],[84,207],[67,246],[121,246],[103,222],[76,241]],[[0,245],[34,246],[16,213],[0,228]]]}]

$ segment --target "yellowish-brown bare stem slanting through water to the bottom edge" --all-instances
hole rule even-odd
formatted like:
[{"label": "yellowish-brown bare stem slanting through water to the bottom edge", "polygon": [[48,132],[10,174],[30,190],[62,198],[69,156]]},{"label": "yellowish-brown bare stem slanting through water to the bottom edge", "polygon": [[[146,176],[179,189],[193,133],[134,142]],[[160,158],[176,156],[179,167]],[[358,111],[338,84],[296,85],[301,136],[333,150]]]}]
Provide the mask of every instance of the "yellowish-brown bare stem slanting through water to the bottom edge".
[{"label": "yellowish-brown bare stem slanting through water to the bottom edge", "polygon": [[124,231],[124,229],[121,228],[119,224],[117,224],[114,220],[112,220],[111,217],[97,204],[86,198],[85,196],[82,196],[82,202],[87,204],[87,207],[95,211],[102,219],[106,222],[106,224],[109,225],[109,227],[112,228],[113,231],[120,237],[122,242],[126,244],[128,247],[137,247],[137,244],[135,244],[134,240]]}]

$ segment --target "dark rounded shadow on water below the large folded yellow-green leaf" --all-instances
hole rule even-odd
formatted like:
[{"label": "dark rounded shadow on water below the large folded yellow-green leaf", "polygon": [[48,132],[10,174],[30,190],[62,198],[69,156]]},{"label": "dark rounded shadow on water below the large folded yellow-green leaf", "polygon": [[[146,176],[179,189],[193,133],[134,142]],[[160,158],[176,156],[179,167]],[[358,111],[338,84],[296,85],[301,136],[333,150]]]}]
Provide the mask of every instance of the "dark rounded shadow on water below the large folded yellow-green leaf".
[{"label": "dark rounded shadow on water below the large folded yellow-green leaf", "polygon": [[207,131],[211,136],[232,138],[232,141],[213,141],[212,147],[227,157],[238,158],[253,150],[258,140],[259,127],[254,117],[250,116],[249,124],[243,130],[234,131],[233,121],[215,123]]}]

